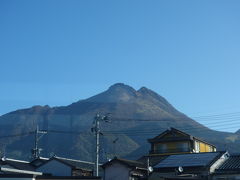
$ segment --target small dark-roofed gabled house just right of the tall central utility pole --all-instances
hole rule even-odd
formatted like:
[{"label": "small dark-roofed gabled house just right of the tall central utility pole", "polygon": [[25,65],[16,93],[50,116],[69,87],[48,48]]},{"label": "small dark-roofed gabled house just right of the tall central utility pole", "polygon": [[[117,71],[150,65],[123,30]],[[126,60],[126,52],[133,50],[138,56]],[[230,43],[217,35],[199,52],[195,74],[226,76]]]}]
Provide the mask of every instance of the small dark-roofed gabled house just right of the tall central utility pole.
[{"label": "small dark-roofed gabled house just right of the tall central utility pole", "polygon": [[102,165],[102,168],[104,180],[137,180],[147,175],[144,163],[117,157]]}]

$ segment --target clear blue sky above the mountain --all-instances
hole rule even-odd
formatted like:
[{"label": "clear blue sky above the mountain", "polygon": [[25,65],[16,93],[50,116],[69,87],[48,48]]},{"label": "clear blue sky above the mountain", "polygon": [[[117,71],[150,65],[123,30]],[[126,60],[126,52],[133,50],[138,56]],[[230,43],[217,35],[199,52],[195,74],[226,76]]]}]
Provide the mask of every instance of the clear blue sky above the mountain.
[{"label": "clear blue sky above the mountain", "polygon": [[[229,119],[240,112],[239,8],[239,0],[1,0],[0,114],[68,105],[123,82],[191,117]],[[234,117],[219,129],[239,129]]]}]

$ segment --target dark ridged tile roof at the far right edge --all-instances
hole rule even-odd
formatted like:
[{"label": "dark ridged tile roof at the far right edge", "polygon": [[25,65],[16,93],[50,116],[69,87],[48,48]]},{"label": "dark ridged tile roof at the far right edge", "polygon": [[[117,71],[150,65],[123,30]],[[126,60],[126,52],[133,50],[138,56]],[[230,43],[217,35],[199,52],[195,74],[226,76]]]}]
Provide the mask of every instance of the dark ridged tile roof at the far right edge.
[{"label": "dark ridged tile roof at the far right edge", "polygon": [[230,155],[230,157],[216,169],[217,173],[240,171],[240,154]]}]

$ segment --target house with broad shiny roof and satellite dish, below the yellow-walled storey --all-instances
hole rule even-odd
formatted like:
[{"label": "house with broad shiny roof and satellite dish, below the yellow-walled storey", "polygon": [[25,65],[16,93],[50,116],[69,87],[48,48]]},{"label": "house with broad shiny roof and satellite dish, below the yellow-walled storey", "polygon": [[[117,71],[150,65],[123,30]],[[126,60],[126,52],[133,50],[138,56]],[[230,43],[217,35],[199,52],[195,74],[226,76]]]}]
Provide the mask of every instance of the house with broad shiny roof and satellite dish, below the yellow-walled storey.
[{"label": "house with broad shiny roof and satellite dish, below the yellow-walled storey", "polygon": [[228,152],[205,152],[169,155],[157,165],[149,180],[207,179],[229,157]]}]

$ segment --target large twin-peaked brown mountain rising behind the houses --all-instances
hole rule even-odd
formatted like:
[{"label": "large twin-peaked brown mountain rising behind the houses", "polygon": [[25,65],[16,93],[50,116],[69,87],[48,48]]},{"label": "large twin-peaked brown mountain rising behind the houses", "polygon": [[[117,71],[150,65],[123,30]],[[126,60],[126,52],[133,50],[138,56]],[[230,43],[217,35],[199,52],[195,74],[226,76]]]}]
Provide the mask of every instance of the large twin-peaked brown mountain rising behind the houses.
[{"label": "large twin-peaked brown mountain rising behind the houses", "polygon": [[0,116],[1,152],[28,159],[34,146],[33,131],[38,125],[48,131],[39,141],[43,156],[57,154],[92,160],[95,140],[91,127],[96,113],[111,113],[111,122],[100,124],[102,160],[115,155],[134,159],[146,154],[147,139],[169,127],[200,137],[217,145],[219,150],[240,150],[239,135],[214,131],[199,124],[146,87],[135,90],[117,83],[98,95],[68,106],[33,106]]}]

